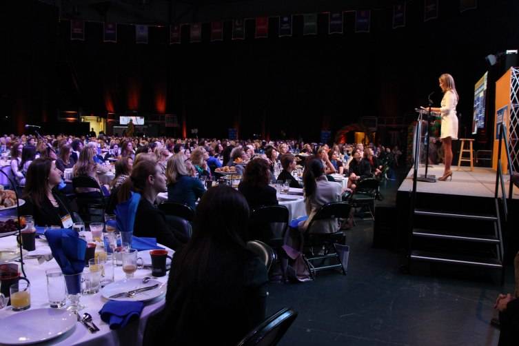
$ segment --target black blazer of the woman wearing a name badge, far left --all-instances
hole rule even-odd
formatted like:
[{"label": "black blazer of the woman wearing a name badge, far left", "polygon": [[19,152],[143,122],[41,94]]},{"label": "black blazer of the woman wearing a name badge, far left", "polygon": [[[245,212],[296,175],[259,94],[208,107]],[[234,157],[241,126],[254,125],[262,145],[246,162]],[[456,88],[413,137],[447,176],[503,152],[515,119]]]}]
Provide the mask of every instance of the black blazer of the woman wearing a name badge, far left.
[{"label": "black blazer of the woman wearing a name badge, far left", "polygon": [[56,189],[52,190],[52,195],[58,202],[59,208],[54,207],[46,196],[45,199],[43,199],[41,207],[35,205],[30,196],[26,196],[26,203],[20,207],[21,214],[32,215],[34,223],[37,226],[63,226],[61,224],[61,217],[66,214],[70,214],[72,221],[78,221],[74,219],[75,210],[72,210],[70,207],[67,196],[61,194],[61,192]]}]

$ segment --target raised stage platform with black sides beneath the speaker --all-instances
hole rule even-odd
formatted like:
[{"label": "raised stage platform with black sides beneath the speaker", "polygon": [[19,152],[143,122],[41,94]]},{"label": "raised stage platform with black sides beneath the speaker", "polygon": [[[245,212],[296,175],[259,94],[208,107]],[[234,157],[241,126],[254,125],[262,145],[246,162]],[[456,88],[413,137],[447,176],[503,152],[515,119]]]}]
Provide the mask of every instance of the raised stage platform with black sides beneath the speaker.
[{"label": "raised stage platform with black sides beneath the speaker", "polygon": [[[496,172],[487,167],[453,166],[452,181],[436,181],[426,183],[418,181],[416,185],[416,209],[432,210],[441,213],[467,214],[480,216],[496,216],[496,202],[494,199],[496,189]],[[397,236],[394,239],[396,249],[407,252],[409,250],[409,234],[411,232],[410,197],[413,189],[413,170],[411,167],[406,178],[398,187],[396,194]],[[425,166],[420,167],[418,176],[425,174]],[[429,166],[427,175],[442,176],[443,165]],[[509,191],[509,176],[505,176],[505,192]],[[499,187],[498,196],[501,196]],[[505,245],[505,262],[511,263],[513,256],[518,251],[519,234],[514,225],[519,223],[519,189],[513,187],[513,199],[508,202],[508,220],[505,221],[502,203],[499,203],[502,224],[502,235]],[[393,221],[394,223],[394,221]],[[435,217],[414,217],[414,225],[422,228],[434,228],[440,232],[455,230],[456,232],[469,232],[471,234],[486,234],[493,232],[489,225],[477,221],[462,219],[440,219]],[[515,230],[514,230],[515,228]],[[427,238],[426,243],[431,243]],[[478,245],[479,246],[479,245]]]}]

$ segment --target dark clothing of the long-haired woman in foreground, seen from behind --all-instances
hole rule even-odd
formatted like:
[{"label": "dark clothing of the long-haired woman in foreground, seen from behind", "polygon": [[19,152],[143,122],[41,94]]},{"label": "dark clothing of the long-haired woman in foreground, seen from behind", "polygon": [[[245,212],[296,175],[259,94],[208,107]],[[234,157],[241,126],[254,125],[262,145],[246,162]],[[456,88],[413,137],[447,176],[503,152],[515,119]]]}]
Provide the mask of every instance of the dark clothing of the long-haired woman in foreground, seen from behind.
[{"label": "dark clothing of the long-haired woman in foreground, seen from behind", "polygon": [[265,265],[245,249],[213,248],[199,274],[184,251],[173,257],[165,307],[150,317],[143,345],[236,345],[265,318]]}]

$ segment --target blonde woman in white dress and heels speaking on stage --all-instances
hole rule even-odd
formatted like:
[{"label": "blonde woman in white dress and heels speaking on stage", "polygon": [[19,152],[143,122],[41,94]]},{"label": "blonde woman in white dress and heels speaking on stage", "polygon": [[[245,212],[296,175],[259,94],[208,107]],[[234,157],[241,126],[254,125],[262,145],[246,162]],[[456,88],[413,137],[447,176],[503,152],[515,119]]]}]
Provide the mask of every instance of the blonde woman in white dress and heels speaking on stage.
[{"label": "blonde woman in white dress and heels speaking on stage", "polygon": [[454,78],[448,73],[440,76],[440,88],[442,88],[443,99],[440,108],[431,108],[431,112],[440,113],[442,117],[442,128],[440,138],[442,139],[443,150],[445,152],[445,170],[443,176],[438,180],[445,181],[447,178],[452,180],[452,141],[458,139],[458,117],[456,116],[456,105],[458,104],[458,92]]}]

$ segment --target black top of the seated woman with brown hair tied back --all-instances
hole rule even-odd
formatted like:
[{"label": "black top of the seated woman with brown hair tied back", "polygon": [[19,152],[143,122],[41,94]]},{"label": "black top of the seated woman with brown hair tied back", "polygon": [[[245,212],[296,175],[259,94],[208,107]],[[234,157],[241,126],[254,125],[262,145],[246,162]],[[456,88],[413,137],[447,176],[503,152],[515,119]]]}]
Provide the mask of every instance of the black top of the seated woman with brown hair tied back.
[{"label": "black top of the seated woman with brown hair tied back", "polygon": [[176,232],[170,225],[167,225],[165,214],[161,210],[154,207],[143,197],[139,201],[135,214],[133,234],[134,236],[156,238],[157,243],[173,250],[178,249],[180,245],[188,241],[183,234]]}]

